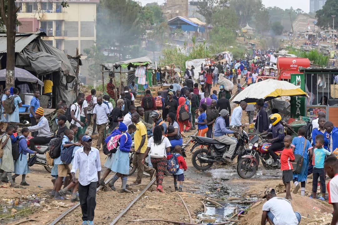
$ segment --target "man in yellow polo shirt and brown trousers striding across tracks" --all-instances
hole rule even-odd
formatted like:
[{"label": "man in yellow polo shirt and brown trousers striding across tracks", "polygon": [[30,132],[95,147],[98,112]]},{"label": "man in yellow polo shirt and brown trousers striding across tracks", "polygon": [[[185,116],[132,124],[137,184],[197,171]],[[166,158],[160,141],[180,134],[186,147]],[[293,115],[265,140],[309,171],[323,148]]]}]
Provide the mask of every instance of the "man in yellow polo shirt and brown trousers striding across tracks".
[{"label": "man in yellow polo shirt and brown trousers striding across tracks", "polygon": [[134,135],[135,152],[132,164],[137,166],[137,178],[130,186],[138,186],[141,184],[143,171],[149,173],[150,180],[152,180],[154,175],[156,175],[156,170],[141,163],[148,144],[146,126],[140,121],[140,115],[136,112],[131,114],[131,122],[136,125],[136,132]]}]

